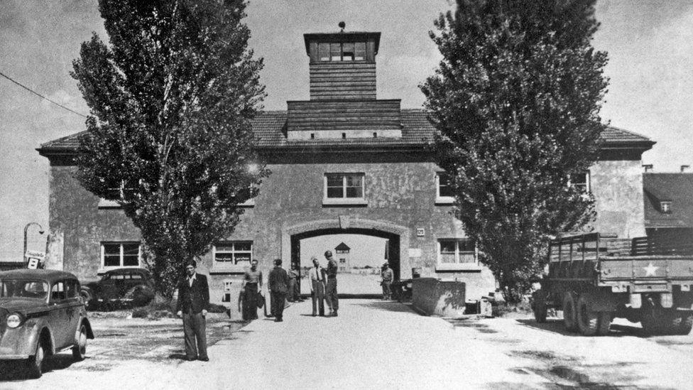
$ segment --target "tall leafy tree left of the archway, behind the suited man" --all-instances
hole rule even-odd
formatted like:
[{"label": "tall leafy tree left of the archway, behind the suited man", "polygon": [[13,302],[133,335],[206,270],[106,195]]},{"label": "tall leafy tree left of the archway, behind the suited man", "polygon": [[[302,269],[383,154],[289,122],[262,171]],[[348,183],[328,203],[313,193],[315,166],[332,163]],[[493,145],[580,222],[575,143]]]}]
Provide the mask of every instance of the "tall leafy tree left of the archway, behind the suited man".
[{"label": "tall leafy tree left of the archway, behind the suited man", "polygon": [[239,203],[268,175],[253,153],[250,121],[265,93],[245,7],[99,0],[109,45],[94,33],[73,61],[91,112],[77,178],[141,230],[167,298],[185,261],[233,231]]}]

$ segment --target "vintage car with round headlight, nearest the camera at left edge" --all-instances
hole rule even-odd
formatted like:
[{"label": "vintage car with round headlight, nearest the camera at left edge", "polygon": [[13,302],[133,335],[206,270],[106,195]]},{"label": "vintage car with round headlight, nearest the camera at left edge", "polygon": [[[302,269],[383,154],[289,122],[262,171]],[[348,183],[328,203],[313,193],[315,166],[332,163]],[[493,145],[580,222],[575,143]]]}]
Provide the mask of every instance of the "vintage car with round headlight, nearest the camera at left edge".
[{"label": "vintage car with round headlight, nearest the camera at left edge", "polygon": [[94,333],[79,291],[72,273],[0,272],[0,362],[24,360],[28,376],[38,378],[50,354],[71,348],[75,359],[84,359]]}]

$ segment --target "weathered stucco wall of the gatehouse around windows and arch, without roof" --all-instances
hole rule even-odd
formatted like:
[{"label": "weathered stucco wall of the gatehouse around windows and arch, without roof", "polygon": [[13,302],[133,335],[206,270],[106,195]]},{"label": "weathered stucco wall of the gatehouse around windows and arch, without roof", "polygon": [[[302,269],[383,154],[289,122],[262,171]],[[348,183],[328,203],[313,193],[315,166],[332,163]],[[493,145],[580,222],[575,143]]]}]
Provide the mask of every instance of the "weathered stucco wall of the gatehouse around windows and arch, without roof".
[{"label": "weathered stucco wall of the gatehouse around windows and arch, without roof", "polygon": [[[270,164],[272,174],[261,185],[254,207],[245,209],[234,234],[227,237],[252,241],[253,257],[260,261],[261,269],[271,269],[271,261],[277,257],[288,267],[293,234],[349,227],[375,229],[399,237],[400,278],[410,278],[412,269],[418,268],[423,277],[464,282],[470,299],[493,291],[495,281],[485,267],[436,269],[437,240],[462,238],[464,230],[450,214],[451,206],[435,205],[434,163],[407,155],[386,161],[370,158],[377,162],[346,155],[308,160]],[[100,242],[140,241],[141,236],[122,210],[99,210],[98,198],[80,186],[74,173],[72,166],[51,167],[48,264],[91,280],[101,267]],[[364,173],[367,205],[323,205],[325,173]],[[594,229],[619,237],[644,235],[640,161],[599,161],[590,176],[598,212]],[[417,229],[424,234],[419,236]],[[229,272],[213,263],[209,253],[200,264],[200,272],[212,276],[212,300],[221,300],[223,281],[230,280],[231,305],[235,306],[242,269]]]}]

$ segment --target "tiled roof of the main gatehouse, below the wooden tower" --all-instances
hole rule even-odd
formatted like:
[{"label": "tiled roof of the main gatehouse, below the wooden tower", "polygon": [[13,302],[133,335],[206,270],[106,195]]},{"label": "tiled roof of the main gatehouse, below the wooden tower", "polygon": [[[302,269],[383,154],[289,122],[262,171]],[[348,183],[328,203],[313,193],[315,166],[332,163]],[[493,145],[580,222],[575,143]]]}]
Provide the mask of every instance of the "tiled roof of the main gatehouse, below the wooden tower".
[{"label": "tiled roof of the main gatehouse, below the wooden tower", "polygon": [[[253,119],[253,131],[258,139],[257,146],[263,148],[322,148],[322,147],[416,147],[421,148],[433,140],[434,128],[427,119],[427,114],[422,109],[403,109],[402,113],[402,138],[353,138],[353,139],[286,139],[285,111],[261,112]],[[39,148],[41,152],[67,152],[74,151],[79,145],[80,136],[86,135],[82,131],[71,136],[62,137],[43,143]],[[650,148],[653,141],[635,134],[631,131],[608,127],[602,133],[602,139],[609,146],[630,146],[633,148]]]}]

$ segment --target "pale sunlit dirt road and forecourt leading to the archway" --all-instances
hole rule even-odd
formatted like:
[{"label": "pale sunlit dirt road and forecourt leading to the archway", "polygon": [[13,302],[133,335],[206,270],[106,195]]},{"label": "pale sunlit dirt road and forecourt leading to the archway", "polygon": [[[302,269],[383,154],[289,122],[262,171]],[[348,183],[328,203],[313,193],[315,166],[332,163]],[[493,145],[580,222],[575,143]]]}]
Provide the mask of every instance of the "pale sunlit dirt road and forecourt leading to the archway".
[{"label": "pale sunlit dirt road and forecourt leading to the archway", "polygon": [[310,301],[283,323],[209,327],[210,362],[184,362],[179,320],[94,318],[84,362],[53,357],[41,379],[0,375],[0,389],[691,389],[693,335],[644,337],[617,323],[608,337],[558,320],[444,320],[407,305],[342,300],[337,318]]}]

